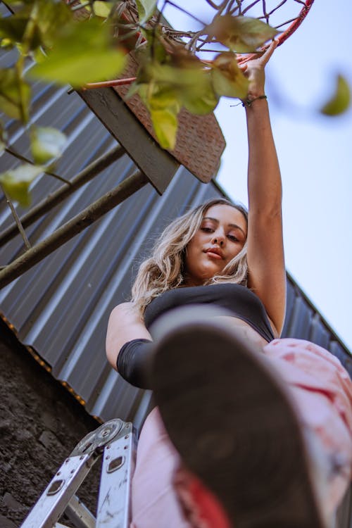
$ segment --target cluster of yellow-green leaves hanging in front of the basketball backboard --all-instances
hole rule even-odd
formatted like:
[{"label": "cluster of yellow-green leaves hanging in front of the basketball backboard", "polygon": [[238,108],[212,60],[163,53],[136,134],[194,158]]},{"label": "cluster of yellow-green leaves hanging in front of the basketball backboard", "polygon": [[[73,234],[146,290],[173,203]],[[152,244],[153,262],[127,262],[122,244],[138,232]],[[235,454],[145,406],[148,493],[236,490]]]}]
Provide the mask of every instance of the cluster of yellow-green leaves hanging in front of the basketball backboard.
[{"label": "cluster of yellow-green leaves hanging in front of the basketball backboard", "polygon": [[[163,46],[163,37],[153,34],[144,56],[134,89],[151,115],[153,128],[164,149],[173,149],[177,134],[177,115],[181,108],[196,115],[212,112],[220,96],[245,97],[248,81],[237,66],[236,57],[221,54],[210,65],[174,46],[172,53]],[[152,56],[152,58],[151,58]],[[222,57],[224,56],[224,57]]]}]

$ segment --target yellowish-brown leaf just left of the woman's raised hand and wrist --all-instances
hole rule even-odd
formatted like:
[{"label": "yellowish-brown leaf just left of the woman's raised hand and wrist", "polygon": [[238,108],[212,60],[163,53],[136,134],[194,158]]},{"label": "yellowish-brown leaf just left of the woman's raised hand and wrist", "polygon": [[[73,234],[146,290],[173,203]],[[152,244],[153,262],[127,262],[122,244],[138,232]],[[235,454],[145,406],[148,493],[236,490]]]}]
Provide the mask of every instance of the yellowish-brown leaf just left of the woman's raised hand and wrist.
[{"label": "yellowish-brown leaf just left of the woman's raised hand and wrist", "polygon": [[244,99],[248,94],[249,81],[239,69],[236,56],[231,51],[216,56],[211,77],[218,96]]}]

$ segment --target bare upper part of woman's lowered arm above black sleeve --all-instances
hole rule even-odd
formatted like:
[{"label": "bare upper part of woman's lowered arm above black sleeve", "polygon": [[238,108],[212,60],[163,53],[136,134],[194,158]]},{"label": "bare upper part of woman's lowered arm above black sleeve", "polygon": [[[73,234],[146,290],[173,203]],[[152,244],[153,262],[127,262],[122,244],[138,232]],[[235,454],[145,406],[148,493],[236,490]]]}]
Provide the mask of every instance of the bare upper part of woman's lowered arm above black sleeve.
[{"label": "bare upper part of woman's lowered arm above black sleeve", "polygon": [[134,303],[119,304],[111,312],[106,334],[106,357],[115,370],[122,345],[133,339],[151,340],[151,334]]}]

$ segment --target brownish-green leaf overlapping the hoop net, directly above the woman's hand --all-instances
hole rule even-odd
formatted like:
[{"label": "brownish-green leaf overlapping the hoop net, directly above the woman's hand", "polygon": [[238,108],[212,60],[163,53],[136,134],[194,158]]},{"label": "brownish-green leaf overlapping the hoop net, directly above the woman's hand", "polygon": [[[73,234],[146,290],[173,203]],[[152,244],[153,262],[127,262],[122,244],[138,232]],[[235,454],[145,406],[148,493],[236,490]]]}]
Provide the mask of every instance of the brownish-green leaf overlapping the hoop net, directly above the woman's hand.
[{"label": "brownish-green leaf overlapping the hoop net, directly above the woman's hand", "polygon": [[237,53],[251,53],[279,33],[258,18],[222,15],[204,32]]}]

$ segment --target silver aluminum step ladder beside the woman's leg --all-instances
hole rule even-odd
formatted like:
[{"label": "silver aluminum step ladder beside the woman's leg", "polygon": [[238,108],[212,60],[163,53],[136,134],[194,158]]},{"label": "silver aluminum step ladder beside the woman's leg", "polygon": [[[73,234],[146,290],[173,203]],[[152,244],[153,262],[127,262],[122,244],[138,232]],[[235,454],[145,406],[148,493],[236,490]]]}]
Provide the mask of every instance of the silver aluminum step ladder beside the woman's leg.
[{"label": "silver aluminum step ladder beside the woman's leg", "polygon": [[[67,528],[58,522],[63,513],[77,528],[128,528],[136,438],[132,423],[120,419],[109,420],[84,436],[20,528]],[[100,458],[103,463],[94,517],[75,492]]]}]

